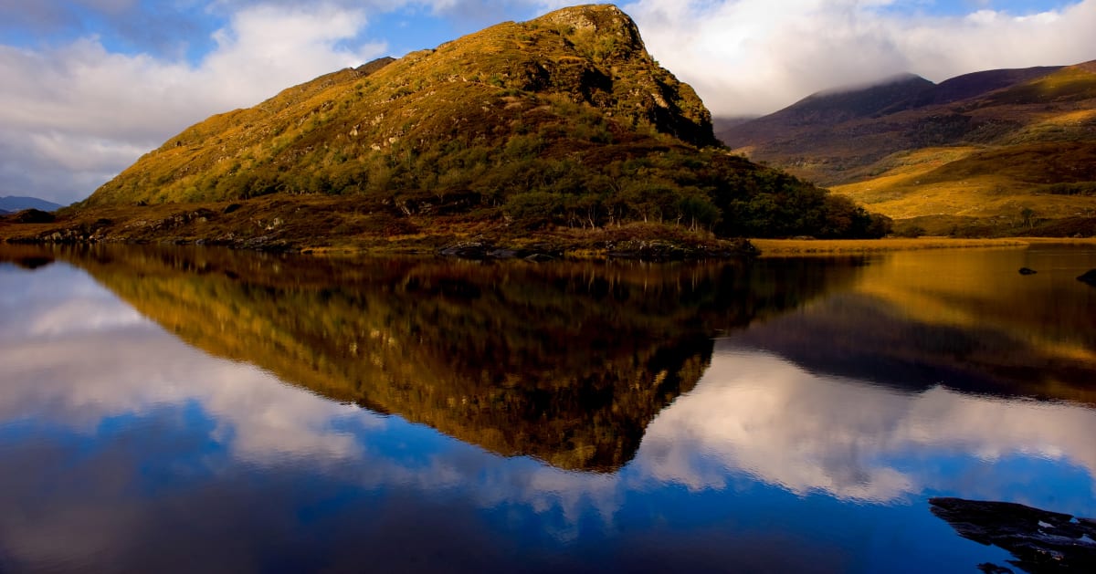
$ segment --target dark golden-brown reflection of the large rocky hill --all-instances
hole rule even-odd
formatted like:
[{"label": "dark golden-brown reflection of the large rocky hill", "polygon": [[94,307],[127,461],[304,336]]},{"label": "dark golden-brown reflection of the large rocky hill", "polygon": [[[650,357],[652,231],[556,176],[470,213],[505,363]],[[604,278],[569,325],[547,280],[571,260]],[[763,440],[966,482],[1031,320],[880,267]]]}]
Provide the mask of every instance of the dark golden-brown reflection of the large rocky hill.
[{"label": "dark golden-brown reflection of the large rocky hill", "polygon": [[483,265],[227,251],[75,259],[187,343],[504,456],[613,470],[707,368],[711,336],[858,266]]}]

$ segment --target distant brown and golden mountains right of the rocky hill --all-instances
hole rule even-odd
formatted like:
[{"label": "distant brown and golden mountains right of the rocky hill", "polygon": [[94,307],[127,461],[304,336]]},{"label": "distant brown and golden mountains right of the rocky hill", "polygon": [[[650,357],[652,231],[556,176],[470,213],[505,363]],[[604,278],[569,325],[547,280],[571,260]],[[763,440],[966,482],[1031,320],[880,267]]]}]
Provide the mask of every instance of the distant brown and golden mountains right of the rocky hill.
[{"label": "distant brown and golden mountains right of the rocky hill", "polygon": [[952,234],[1096,234],[1096,62],[902,76],[718,136],[897,220]]}]

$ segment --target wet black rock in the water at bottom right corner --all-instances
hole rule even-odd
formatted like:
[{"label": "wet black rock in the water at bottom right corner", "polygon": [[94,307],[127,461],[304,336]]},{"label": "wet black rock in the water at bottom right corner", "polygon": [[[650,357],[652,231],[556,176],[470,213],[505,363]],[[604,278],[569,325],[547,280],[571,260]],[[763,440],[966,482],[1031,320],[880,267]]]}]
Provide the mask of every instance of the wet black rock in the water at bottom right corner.
[{"label": "wet black rock in the water at bottom right corner", "polygon": [[[1096,523],[1005,502],[929,498],[932,512],[956,532],[1011,552],[1008,561],[1027,572],[1096,572]],[[982,572],[1006,572],[981,564]]]}]

